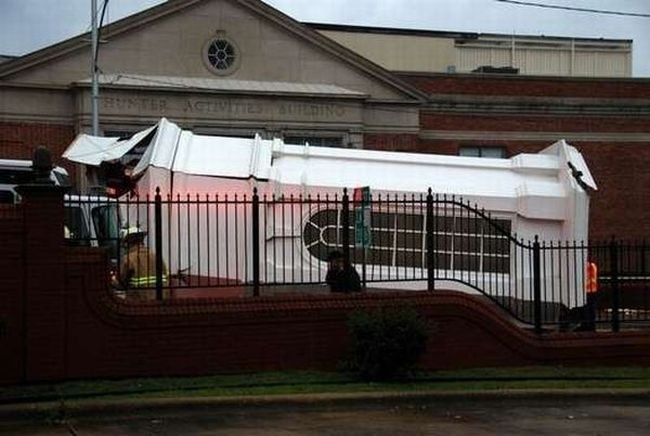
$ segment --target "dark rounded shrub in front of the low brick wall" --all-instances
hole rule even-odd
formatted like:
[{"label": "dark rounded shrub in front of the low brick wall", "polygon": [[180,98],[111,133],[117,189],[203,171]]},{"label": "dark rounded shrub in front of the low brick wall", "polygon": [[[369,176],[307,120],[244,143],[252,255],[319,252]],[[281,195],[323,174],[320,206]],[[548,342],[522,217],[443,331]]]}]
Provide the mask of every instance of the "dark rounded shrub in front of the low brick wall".
[{"label": "dark rounded shrub in front of the low brick wall", "polygon": [[427,320],[410,307],[354,312],[348,328],[350,348],[342,366],[365,380],[407,375],[429,338]]}]

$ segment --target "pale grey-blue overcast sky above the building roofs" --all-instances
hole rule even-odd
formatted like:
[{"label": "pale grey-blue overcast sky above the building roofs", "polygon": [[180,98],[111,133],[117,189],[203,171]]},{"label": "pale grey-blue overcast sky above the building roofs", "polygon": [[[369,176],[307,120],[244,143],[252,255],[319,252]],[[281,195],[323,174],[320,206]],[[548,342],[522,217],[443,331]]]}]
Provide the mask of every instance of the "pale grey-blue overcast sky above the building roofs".
[{"label": "pale grey-blue overcast sky above the building roofs", "polygon": [[[110,0],[112,22],[164,0]],[[527,0],[650,14],[650,0]],[[0,54],[21,55],[90,29],[91,0],[0,0]],[[650,77],[650,18],[497,0],[266,0],[299,21],[426,30],[633,39],[633,74]],[[98,0],[101,4],[102,0]]]}]

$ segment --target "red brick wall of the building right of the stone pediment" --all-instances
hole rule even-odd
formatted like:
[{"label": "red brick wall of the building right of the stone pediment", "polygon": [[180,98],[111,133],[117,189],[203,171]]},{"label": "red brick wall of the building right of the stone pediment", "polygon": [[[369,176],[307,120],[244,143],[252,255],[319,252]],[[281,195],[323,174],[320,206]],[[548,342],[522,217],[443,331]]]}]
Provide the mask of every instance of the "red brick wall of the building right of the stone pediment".
[{"label": "red brick wall of the building right of the stone pediment", "polygon": [[[458,95],[517,97],[520,113],[450,113],[424,110],[420,124],[426,130],[449,131],[449,139],[423,139],[420,151],[457,154],[463,145],[504,146],[508,155],[537,152],[549,141],[493,139],[463,141],[453,139],[452,132],[558,132],[614,134],[614,139],[570,141],[585,157],[598,191],[592,195],[590,236],[596,239],[644,239],[650,231],[650,140],[631,142],[616,133],[646,134],[650,137],[650,116],[638,106],[650,99],[650,80],[585,79],[558,77],[490,77],[486,75],[404,74],[402,78],[435,96]],[[580,116],[527,114],[527,97],[557,98],[547,102],[549,108],[561,109],[566,98],[579,98],[590,104],[619,107],[620,116]],[[426,135],[425,135],[426,136]]]}]

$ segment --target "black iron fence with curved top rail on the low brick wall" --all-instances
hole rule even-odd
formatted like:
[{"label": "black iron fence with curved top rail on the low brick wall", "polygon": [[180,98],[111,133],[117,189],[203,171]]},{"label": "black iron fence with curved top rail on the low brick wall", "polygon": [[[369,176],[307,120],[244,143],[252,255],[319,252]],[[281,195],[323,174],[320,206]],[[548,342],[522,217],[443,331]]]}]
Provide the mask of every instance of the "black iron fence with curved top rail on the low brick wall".
[{"label": "black iron fence with curved top rail on the low brick wall", "polygon": [[[650,322],[645,243],[522,239],[508,216],[455,196],[158,192],[66,206],[69,242],[108,245],[115,286],[127,295],[325,291],[336,250],[365,287],[483,295],[537,331]],[[588,262],[598,267],[595,296],[586,293]]]}]

